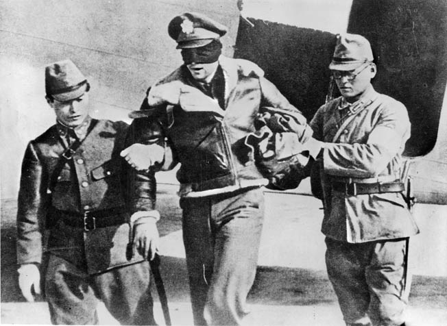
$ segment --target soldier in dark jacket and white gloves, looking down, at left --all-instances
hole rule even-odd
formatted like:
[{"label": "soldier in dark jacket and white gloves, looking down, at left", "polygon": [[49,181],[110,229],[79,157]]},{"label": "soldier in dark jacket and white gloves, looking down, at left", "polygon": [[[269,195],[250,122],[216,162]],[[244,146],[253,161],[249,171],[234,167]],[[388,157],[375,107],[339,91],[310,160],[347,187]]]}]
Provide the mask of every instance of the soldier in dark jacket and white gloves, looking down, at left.
[{"label": "soldier in dark jacket and white gloves, looking down, at left", "polygon": [[[138,189],[128,191],[135,174],[119,155],[128,125],[90,118],[89,88],[71,60],[45,68],[56,124],[23,158],[19,286],[34,301],[43,284],[53,324],[97,324],[101,299],[121,324],[156,325],[147,258],[156,251],[158,212]],[[155,186],[153,178],[138,184],[144,192]]]}]

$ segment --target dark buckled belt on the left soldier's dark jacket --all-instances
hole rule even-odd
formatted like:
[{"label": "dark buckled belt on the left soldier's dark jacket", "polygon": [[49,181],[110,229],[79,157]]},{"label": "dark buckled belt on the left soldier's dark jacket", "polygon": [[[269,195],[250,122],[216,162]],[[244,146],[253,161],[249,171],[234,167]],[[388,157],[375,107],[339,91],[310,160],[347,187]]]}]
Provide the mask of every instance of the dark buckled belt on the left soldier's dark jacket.
[{"label": "dark buckled belt on the left soldier's dark jacket", "polygon": [[111,227],[128,222],[125,208],[110,208],[107,210],[86,211],[84,214],[68,212],[53,208],[56,218],[62,219],[64,224],[71,227],[81,227],[84,231],[91,231],[100,227]]}]

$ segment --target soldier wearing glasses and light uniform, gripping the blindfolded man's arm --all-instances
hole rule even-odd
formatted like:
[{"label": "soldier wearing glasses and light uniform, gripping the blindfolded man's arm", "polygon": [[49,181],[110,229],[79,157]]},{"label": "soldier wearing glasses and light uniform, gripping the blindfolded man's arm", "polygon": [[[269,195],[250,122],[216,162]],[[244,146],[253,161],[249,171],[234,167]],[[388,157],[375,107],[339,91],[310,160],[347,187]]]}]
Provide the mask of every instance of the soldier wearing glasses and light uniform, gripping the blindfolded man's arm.
[{"label": "soldier wearing glasses and light uniform, gripping the blindfolded man's arm", "polygon": [[324,204],[326,267],[346,325],[404,325],[409,237],[419,230],[405,197],[405,106],[374,90],[376,64],[363,36],[339,35],[329,68],[341,97],[311,121],[322,151],[312,183]]}]

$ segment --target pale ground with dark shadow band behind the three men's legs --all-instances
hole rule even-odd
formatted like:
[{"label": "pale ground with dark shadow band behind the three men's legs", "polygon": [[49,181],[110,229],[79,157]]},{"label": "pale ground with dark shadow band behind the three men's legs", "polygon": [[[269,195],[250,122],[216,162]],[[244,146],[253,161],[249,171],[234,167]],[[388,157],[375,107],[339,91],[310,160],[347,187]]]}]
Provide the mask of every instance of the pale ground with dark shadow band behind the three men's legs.
[{"label": "pale ground with dark shadow band behind the three men's legs", "polygon": [[[162,276],[173,325],[191,325],[177,186],[160,185],[158,223]],[[300,189],[300,188],[299,188]],[[322,210],[308,195],[266,192],[266,219],[256,280],[249,295],[250,325],[344,325],[324,266]],[[1,324],[49,324],[47,305],[25,303],[16,283],[15,199],[1,201]],[[409,325],[447,325],[447,209],[416,205],[421,234],[411,241],[413,270]],[[157,294],[155,313],[162,324]],[[117,325],[99,303],[102,325]]]}]

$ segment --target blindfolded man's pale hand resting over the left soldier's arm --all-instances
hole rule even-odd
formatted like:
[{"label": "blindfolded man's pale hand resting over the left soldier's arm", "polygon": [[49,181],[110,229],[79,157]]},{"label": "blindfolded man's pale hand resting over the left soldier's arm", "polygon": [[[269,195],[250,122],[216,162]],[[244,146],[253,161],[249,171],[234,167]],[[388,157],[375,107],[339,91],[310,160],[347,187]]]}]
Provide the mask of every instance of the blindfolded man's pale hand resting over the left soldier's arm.
[{"label": "blindfolded man's pale hand resting over the left soldier's arm", "polygon": [[130,145],[127,149],[123,149],[120,155],[138,171],[147,170],[150,166],[163,162],[165,157],[165,148],[157,144]]}]

